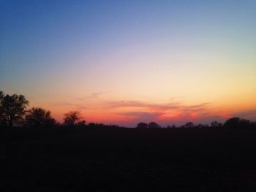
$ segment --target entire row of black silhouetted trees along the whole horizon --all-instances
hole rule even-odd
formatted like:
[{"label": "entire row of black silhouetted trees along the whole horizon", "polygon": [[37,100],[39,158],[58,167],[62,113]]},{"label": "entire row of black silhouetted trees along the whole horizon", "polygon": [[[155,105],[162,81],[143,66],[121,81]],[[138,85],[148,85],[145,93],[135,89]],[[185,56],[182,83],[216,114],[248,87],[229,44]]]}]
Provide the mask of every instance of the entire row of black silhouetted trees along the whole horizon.
[{"label": "entire row of black silhouetted trees along the whole horizon", "polygon": [[[102,123],[86,123],[86,120],[80,115],[80,111],[69,111],[64,114],[64,123],[58,123],[49,110],[41,107],[32,107],[28,110],[29,101],[23,95],[4,94],[0,91],[0,127],[12,128],[18,127],[83,127],[83,128],[124,128],[117,125],[105,125]],[[138,123],[136,128],[256,128],[256,122],[243,118],[230,118],[225,123],[219,123],[216,120],[208,124],[197,124],[192,122],[185,123],[182,126],[161,127],[156,122]]]}]

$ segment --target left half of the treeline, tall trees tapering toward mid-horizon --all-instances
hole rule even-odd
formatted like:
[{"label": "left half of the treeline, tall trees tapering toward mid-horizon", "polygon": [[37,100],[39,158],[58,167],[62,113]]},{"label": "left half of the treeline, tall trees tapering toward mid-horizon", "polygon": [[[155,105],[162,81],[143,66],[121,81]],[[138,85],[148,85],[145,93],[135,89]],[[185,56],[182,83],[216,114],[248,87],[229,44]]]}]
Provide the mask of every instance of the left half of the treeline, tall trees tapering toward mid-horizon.
[{"label": "left half of the treeline, tall trees tapering toward mid-horizon", "polygon": [[64,114],[64,123],[57,122],[49,110],[41,107],[28,109],[29,101],[23,95],[4,94],[0,91],[0,127],[86,127],[86,128],[122,128],[116,125],[88,123],[80,115],[80,111],[69,111]]}]

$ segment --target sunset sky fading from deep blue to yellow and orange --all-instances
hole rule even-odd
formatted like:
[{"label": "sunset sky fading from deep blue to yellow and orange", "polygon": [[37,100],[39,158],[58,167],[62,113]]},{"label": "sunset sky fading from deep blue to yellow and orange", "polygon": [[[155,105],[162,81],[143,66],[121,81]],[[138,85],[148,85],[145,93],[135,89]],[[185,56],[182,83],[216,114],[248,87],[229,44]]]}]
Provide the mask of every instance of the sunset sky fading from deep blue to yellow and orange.
[{"label": "sunset sky fading from deep blue to yellow and orange", "polygon": [[256,120],[256,1],[0,0],[0,91],[60,122]]}]

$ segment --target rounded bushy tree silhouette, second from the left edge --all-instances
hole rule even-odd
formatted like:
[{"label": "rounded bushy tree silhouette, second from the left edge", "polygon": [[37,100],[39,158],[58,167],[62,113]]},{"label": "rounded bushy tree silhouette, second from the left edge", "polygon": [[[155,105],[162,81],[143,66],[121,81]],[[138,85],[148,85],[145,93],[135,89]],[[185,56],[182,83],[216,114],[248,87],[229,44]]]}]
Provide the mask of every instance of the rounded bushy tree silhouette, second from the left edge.
[{"label": "rounded bushy tree silhouette, second from the left edge", "polygon": [[51,117],[50,111],[40,107],[33,107],[26,112],[25,123],[26,126],[30,127],[53,126],[56,120]]}]

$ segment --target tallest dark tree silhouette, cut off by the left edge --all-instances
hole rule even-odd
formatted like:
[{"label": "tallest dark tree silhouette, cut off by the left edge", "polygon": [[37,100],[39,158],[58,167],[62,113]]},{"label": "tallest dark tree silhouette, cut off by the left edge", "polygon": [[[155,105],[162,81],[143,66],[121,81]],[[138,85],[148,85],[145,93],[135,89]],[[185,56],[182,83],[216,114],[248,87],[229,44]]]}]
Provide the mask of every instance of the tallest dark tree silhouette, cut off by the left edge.
[{"label": "tallest dark tree silhouette, cut off by the left edge", "polygon": [[13,94],[4,95],[1,94],[1,124],[12,127],[14,123],[19,123],[23,120],[26,107],[29,105],[29,101],[25,96]]}]

